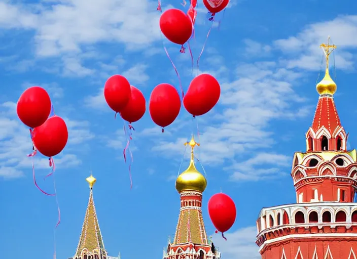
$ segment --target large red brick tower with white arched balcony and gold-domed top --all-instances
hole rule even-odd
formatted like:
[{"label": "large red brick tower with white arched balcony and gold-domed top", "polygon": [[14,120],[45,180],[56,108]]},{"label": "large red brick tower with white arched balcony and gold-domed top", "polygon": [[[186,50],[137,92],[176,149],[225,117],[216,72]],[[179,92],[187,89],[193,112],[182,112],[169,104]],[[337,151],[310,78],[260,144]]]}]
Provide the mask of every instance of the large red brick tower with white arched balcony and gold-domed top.
[{"label": "large red brick tower with white arched balcony and gold-domed top", "polygon": [[306,152],[296,152],[291,176],[297,203],[263,208],[257,245],[263,259],[357,259],[357,153],[347,137],[329,73],[335,45],[320,45],[325,77],[317,83],[318,103],[306,133]]}]

